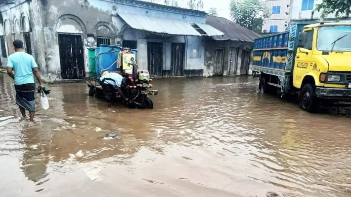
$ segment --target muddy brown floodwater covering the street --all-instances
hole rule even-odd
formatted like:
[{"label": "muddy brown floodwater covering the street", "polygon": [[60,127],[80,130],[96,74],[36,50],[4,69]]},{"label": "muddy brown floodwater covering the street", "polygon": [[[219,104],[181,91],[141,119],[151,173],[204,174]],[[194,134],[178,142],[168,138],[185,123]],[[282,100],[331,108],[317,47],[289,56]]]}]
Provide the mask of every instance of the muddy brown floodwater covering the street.
[{"label": "muddy brown floodwater covering the street", "polygon": [[1,197],[351,196],[349,109],[309,114],[250,77],[156,79],[153,110],[51,85],[32,124],[12,83],[0,74]]}]

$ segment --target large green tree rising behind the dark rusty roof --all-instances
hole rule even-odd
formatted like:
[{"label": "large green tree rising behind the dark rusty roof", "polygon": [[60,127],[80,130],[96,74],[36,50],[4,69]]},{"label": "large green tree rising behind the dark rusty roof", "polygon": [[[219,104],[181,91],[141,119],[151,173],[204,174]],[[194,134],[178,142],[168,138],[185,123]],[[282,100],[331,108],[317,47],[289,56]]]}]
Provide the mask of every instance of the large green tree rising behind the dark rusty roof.
[{"label": "large green tree rising behind the dark rusty roof", "polygon": [[[268,18],[271,12],[261,0],[231,0],[230,16],[238,25],[261,33],[264,18]],[[259,28],[258,26],[261,27]]]}]

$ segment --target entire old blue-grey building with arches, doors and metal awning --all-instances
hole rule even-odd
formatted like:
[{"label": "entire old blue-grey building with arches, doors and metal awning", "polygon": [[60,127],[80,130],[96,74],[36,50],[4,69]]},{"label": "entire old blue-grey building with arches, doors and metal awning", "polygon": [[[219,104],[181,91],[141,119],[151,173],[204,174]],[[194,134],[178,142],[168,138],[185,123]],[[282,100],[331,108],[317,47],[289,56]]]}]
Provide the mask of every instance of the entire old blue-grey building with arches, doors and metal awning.
[{"label": "entire old blue-grey building with arches, doors and metal awning", "polygon": [[205,42],[224,34],[203,11],[137,0],[13,0],[0,13],[2,66],[21,39],[47,82],[89,76],[88,48],[100,44],[136,48],[139,69],[154,77],[212,76]]}]

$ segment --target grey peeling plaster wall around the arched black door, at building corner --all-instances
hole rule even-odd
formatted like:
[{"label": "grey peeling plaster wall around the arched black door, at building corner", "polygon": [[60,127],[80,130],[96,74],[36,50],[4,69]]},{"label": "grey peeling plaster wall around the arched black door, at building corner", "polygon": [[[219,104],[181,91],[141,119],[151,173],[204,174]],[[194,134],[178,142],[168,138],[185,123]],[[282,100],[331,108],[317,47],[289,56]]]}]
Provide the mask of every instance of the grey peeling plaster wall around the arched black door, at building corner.
[{"label": "grey peeling plaster wall around the arched black door, at building corner", "polygon": [[[97,5],[99,5],[99,8]],[[101,0],[47,0],[42,1],[41,7],[41,13],[44,13],[42,15],[43,45],[45,46],[43,55],[46,62],[45,66],[42,67],[44,80],[56,81],[61,79],[59,33],[82,35],[85,70],[88,73],[88,48],[96,45],[97,35],[116,33],[109,11],[110,2]],[[107,31],[99,31],[101,29]],[[114,44],[113,37],[111,44]]]}]

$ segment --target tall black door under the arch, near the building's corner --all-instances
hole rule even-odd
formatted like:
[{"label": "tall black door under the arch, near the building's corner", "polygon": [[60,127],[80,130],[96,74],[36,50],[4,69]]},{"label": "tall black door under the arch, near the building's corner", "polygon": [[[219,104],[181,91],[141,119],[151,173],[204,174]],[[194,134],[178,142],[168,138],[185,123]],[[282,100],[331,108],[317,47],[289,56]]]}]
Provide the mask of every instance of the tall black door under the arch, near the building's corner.
[{"label": "tall black door under the arch, near the building's corner", "polygon": [[58,34],[62,79],[83,79],[84,50],[82,35]]}]

